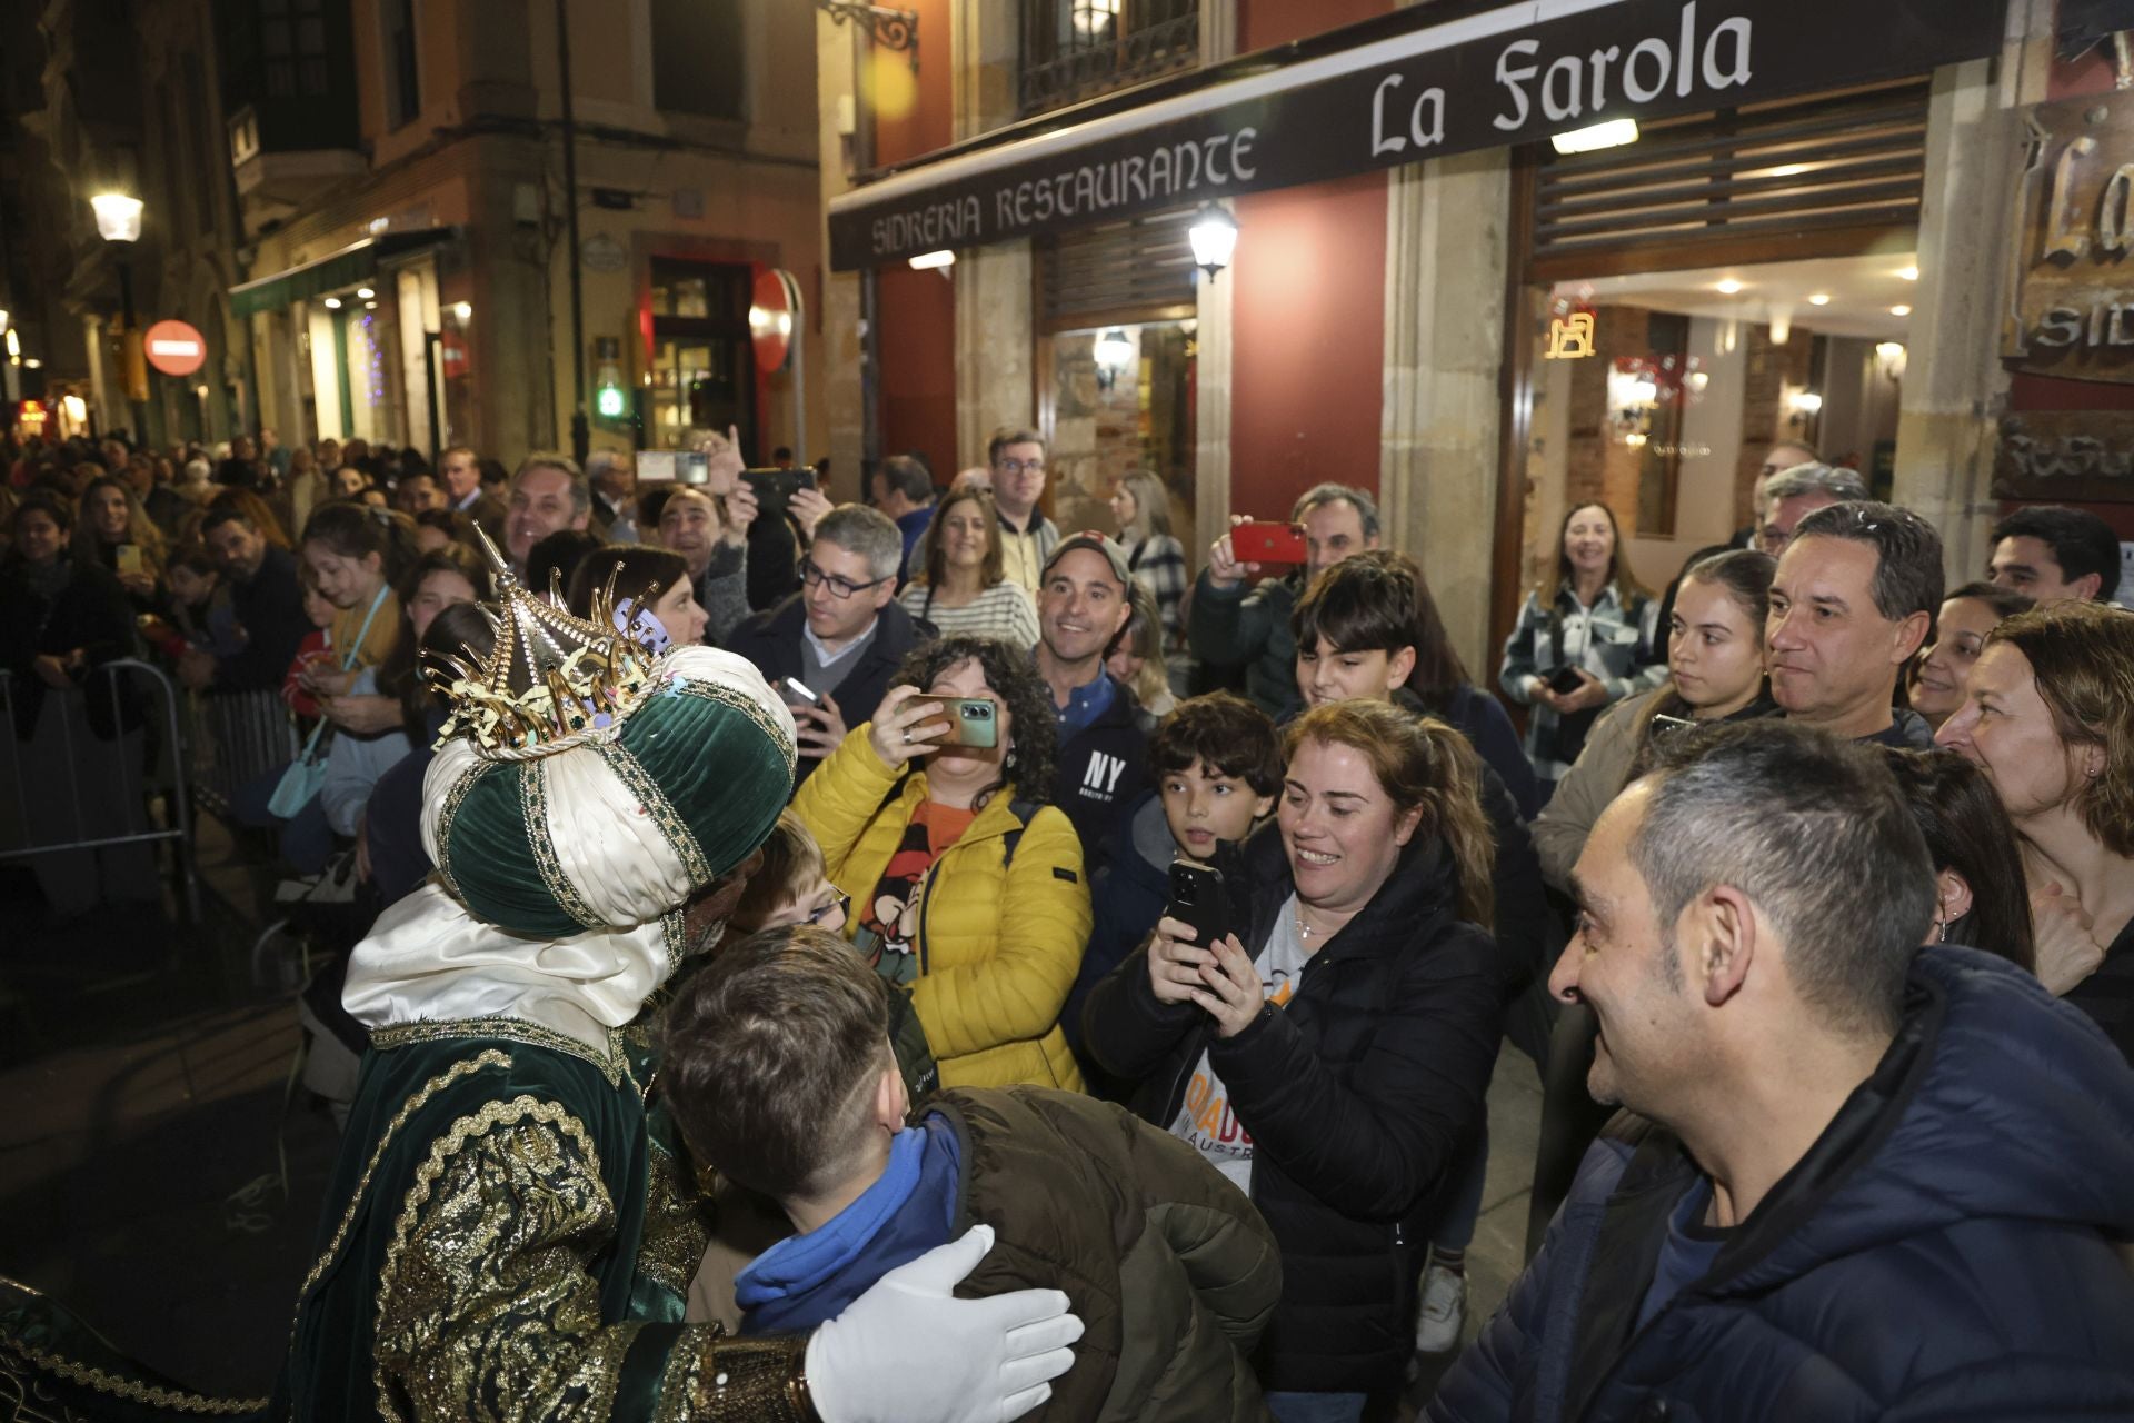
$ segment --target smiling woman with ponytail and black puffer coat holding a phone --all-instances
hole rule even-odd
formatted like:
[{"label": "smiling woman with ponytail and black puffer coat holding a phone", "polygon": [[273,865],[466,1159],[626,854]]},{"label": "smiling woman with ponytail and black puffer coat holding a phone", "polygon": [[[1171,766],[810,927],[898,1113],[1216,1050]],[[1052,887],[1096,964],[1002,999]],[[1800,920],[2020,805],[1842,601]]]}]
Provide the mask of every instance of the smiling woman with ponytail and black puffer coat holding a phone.
[{"label": "smiling woman with ponytail and black puffer coat holding a phone", "polygon": [[1434,717],[1327,702],[1287,755],[1276,824],[1219,856],[1231,932],[1201,945],[1161,920],[1084,1033],[1274,1229],[1270,1412],[1357,1419],[1402,1382],[1423,1248],[1483,1120],[1504,1022],[1494,851],[1481,762]]}]

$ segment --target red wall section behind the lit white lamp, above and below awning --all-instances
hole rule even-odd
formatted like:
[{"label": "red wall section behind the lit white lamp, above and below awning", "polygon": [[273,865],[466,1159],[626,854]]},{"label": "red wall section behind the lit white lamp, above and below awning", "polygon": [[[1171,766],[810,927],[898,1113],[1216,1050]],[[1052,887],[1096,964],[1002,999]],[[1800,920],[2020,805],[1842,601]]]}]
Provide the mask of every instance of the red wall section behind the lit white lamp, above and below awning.
[{"label": "red wall section behind the lit white lamp, above and below awning", "polygon": [[[1387,0],[1240,0],[1238,47],[1283,45]],[[1238,198],[1231,294],[1231,510],[1287,518],[1321,480],[1379,489],[1385,175]]]}]

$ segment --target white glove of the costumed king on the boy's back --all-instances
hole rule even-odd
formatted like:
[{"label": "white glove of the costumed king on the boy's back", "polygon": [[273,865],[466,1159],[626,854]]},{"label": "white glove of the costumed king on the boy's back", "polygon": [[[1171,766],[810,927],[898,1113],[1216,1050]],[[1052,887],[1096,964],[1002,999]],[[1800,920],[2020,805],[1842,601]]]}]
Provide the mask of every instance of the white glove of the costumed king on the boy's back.
[{"label": "white glove of the costumed king on the boy's back", "polygon": [[1056,1289],[956,1299],[992,1227],[937,1246],[815,1329],[807,1385],[824,1423],[1007,1423],[1052,1397],[1082,1321]]}]

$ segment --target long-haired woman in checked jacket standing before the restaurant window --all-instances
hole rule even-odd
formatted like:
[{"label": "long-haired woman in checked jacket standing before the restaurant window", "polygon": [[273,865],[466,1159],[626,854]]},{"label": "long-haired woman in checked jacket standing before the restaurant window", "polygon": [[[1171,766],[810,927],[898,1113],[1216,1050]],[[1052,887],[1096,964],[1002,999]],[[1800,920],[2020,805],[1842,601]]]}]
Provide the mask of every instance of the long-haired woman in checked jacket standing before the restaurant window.
[{"label": "long-haired woman in checked jacket standing before the restaurant window", "polygon": [[1526,755],[1543,800],[1579,760],[1605,706],[1667,678],[1667,663],[1654,661],[1658,625],[1660,604],[1630,576],[1615,510],[1573,506],[1556,540],[1556,570],[1526,595],[1496,676],[1504,695],[1534,708]]}]

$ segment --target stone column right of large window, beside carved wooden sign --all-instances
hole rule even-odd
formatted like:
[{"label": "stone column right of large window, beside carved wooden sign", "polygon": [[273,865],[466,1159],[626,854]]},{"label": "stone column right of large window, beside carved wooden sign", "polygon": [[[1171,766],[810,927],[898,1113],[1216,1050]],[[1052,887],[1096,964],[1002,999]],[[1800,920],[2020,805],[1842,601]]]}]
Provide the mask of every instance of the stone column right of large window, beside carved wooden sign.
[{"label": "stone column right of large window, beside carved wooden sign", "polygon": [[1891,499],[1942,533],[1950,580],[1976,578],[1993,527],[1993,457],[2008,373],[2002,314],[2012,284],[2021,107],[2044,98],[2051,0],[2017,0],[2000,64],[1974,60],[1933,75],[1927,100],[1927,188],[1918,222],[1918,292],[1897,407]]}]

